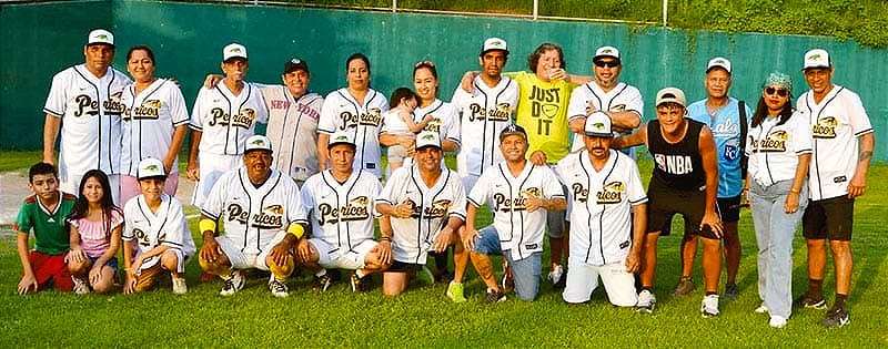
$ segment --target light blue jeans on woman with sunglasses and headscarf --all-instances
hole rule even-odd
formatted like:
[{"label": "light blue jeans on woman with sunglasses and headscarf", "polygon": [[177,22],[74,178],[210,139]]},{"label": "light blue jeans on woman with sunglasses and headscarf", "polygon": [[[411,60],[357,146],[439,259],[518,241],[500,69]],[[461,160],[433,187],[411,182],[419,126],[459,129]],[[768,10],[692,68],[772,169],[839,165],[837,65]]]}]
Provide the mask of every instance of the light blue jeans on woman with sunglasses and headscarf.
[{"label": "light blue jeans on woman with sunglasses and headscarf", "polygon": [[793,238],[808,205],[807,183],[798,195],[798,208],[787,214],[784,203],[793,179],[769,186],[749,184],[749,205],[758,245],[758,296],[771,316],[789,318],[793,311]]}]

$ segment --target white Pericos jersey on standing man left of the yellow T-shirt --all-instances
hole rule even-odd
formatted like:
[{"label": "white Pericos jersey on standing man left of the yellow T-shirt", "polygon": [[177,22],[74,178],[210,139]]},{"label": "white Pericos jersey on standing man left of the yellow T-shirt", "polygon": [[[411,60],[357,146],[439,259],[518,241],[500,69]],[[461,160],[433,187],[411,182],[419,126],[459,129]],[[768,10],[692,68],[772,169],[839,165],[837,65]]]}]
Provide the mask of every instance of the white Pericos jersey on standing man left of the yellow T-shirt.
[{"label": "white Pericos jersey on standing man left of the yellow T-shirt", "polygon": [[460,136],[463,141],[456,155],[460,176],[480,176],[482,171],[503,161],[500,152],[500,131],[512,123],[518,104],[518,84],[503,76],[494,88],[488,88],[481,76],[475,76],[472,93],[456,88],[451,100],[462,113]]}]

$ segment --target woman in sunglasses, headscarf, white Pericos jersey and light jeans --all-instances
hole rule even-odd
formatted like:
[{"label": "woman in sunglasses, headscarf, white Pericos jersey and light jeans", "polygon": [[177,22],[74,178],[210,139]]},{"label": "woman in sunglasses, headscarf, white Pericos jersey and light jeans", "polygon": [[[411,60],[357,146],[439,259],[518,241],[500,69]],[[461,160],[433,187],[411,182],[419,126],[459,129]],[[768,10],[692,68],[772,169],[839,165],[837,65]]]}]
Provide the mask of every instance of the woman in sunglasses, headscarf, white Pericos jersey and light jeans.
[{"label": "woman in sunglasses, headscarf, white Pericos jersey and light jeans", "polygon": [[746,183],[758,245],[758,295],[755,311],[769,314],[768,325],[783,328],[793,308],[793,237],[808,204],[811,131],[807,117],[793,112],[793,82],[774,72],[765,80],[753,114],[746,154]]}]

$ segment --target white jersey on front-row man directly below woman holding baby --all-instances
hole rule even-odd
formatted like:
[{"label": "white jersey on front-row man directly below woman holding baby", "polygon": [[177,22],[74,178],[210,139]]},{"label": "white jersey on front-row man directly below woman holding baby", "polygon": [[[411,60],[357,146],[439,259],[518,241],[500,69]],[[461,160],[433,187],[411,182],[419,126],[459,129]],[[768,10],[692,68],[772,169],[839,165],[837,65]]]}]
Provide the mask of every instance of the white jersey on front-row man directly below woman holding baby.
[{"label": "white jersey on front-row man directly below woman holding baby", "polygon": [[[397,205],[405,199],[413,206],[410,218],[392,217],[392,253],[395,260],[425,264],[428,247],[450,217],[465,220],[465,189],[456,173],[441,170],[441,176],[427,187],[416,165],[395,170],[386,181],[376,203]],[[455,233],[455,232],[454,232]]]}]

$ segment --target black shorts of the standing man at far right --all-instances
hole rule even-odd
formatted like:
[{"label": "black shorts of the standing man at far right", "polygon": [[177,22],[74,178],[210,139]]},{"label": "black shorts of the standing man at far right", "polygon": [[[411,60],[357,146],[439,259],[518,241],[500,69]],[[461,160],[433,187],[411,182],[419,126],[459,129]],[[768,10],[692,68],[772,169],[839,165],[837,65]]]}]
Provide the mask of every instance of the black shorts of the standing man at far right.
[{"label": "black shorts of the standing man at far right", "polygon": [[854,198],[848,196],[811,201],[801,216],[801,235],[807,239],[850,242]]}]

